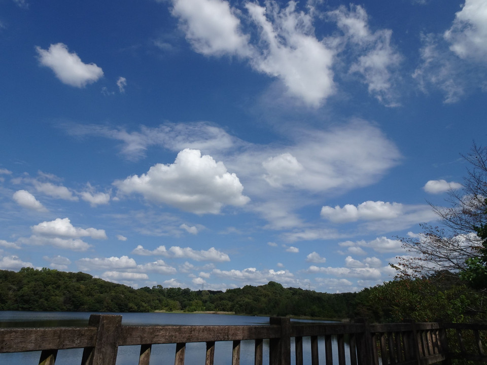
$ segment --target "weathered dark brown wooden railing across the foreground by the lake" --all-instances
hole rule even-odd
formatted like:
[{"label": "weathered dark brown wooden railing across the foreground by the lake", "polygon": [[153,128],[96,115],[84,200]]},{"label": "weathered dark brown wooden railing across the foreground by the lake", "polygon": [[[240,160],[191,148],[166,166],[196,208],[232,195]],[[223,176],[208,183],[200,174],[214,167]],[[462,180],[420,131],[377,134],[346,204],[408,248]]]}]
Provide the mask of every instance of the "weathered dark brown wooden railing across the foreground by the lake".
[{"label": "weathered dark brown wooden railing across the foreground by the lake", "polygon": [[[487,325],[481,324],[291,323],[280,317],[271,317],[269,325],[122,326],[122,316],[91,315],[87,327],[0,329],[0,353],[41,351],[39,363],[54,365],[58,350],[83,348],[82,365],[115,365],[120,346],[137,345],[139,365],[148,365],[152,345],[176,344],[174,363],[183,365],[186,344],[203,342],[205,365],[213,365],[215,343],[229,341],[232,365],[239,365],[240,342],[253,340],[254,364],[262,365],[268,340],[270,365],[291,364],[292,342],[296,365],[303,364],[304,351],[310,353],[311,365],[318,365],[321,356],[327,365],[448,364],[455,359],[487,362],[482,347],[486,333]],[[303,349],[303,338],[309,338],[310,348]],[[320,341],[324,354],[319,353]]]}]

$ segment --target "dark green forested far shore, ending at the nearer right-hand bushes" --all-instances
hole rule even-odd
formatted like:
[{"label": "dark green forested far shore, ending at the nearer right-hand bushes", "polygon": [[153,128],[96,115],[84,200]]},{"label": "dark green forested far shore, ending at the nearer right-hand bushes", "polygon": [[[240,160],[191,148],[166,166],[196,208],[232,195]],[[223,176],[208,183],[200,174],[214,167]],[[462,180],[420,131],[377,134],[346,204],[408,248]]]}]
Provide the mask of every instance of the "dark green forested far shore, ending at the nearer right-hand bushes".
[{"label": "dark green forested far shore, ending at the nearer right-hand bushes", "polygon": [[23,268],[0,270],[0,310],[32,311],[223,311],[248,315],[347,318],[357,294],[327,294],[266,285],[225,291],[188,288],[133,289],[78,272]]}]

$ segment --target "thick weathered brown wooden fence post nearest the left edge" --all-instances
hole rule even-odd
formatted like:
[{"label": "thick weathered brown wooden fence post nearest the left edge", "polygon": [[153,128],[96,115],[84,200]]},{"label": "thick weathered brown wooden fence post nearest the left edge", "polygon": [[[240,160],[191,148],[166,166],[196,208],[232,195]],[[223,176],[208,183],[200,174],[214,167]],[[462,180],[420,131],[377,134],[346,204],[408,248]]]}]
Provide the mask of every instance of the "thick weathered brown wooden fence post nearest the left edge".
[{"label": "thick weathered brown wooden fence post nearest the left edge", "polygon": [[121,315],[92,314],[90,327],[97,327],[95,347],[83,350],[83,365],[115,365],[118,352],[118,338],[122,327]]}]

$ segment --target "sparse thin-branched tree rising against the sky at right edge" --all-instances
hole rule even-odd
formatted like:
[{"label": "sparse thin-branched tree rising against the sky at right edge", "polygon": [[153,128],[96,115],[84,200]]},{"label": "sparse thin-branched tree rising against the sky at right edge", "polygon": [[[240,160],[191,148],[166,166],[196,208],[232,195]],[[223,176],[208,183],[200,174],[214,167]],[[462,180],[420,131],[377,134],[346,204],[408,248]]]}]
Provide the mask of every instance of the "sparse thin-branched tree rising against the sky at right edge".
[{"label": "sparse thin-branched tree rising against the sky at right edge", "polygon": [[[401,239],[411,253],[399,258],[396,268],[402,276],[460,272],[469,279],[475,273],[487,275],[487,148],[474,143],[462,157],[468,163],[463,188],[448,192],[450,207],[432,205],[440,226],[422,225],[419,238]],[[462,275],[467,272],[471,275]]]}]

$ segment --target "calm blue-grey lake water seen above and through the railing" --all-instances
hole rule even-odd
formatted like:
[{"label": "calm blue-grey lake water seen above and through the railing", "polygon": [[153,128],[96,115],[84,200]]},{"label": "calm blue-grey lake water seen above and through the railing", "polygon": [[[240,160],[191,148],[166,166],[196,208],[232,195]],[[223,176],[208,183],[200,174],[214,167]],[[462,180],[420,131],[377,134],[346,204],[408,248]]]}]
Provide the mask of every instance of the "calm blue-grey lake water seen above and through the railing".
[{"label": "calm blue-grey lake water seen above and through the railing", "polygon": [[[0,327],[54,327],[86,326],[90,312],[17,312],[0,311]],[[122,325],[267,325],[269,317],[253,317],[222,314],[199,313],[103,313],[122,315]],[[336,340],[335,340],[336,341]],[[242,341],[240,364],[253,365],[254,341]],[[319,341],[320,354],[324,360],[324,341]],[[333,345],[336,350],[336,344]],[[186,345],[185,363],[204,364],[205,343]],[[56,364],[79,365],[83,349],[60,350]],[[117,365],[137,365],[140,346],[121,346],[118,348]],[[153,345],[151,364],[174,363],[175,344]],[[310,340],[303,338],[304,363],[310,363]],[[347,353],[348,351],[346,351]],[[40,352],[0,353],[2,365],[37,365]],[[268,340],[264,340],[264,363],[268,363]],[[334,354],[334,358],[336,358]],[[215,344],[215,365],[231,363],[232,342]],[[294,339],[291,341],[291,359],[294,363]],[[321,363],[321,361],[320,361]],[[324,363],[324,362],[323,362]]]}]

